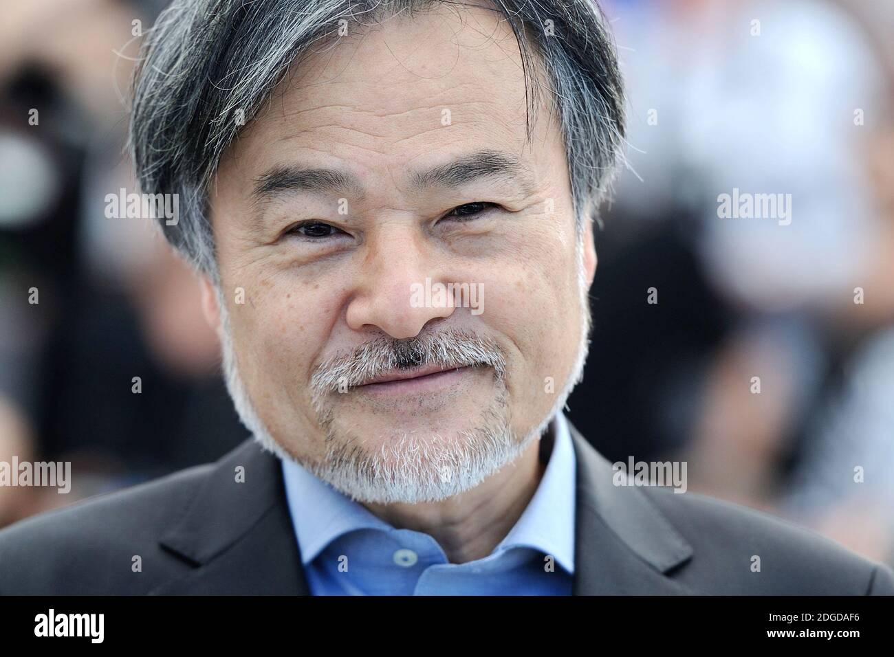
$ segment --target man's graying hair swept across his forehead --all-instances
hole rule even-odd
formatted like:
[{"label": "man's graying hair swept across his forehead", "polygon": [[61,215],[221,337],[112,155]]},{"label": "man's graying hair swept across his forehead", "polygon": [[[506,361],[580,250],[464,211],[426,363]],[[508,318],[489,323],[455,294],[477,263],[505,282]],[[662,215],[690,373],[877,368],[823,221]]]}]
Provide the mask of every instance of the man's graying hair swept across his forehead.
[{"label": "man's graying hair swept across his forehead", "polygon": [[[578,236],[623,162],[624,97],[617,55],[595,0],[489,0],[519,43],[527,136],[552,92],[568,159]],[[412,14],[450,0],[173,0],[148,32],[134,79],[129,148],[141,190],[177,194],[165,238],[217,281],[207,188],[226,148],[293,63],[338,38],[343,21]],[[471,3],[468,3],[471,4]],[[342,23],[340,23],[342,21]],[[539,56],[534,56],[539,55]],[[237,114],[237,113],[242,114]],[[579,240],[578,240],[579,242]],[[579,250],[579,249],[578,249]],[[579,259],[579,255],[578,255]]]}]

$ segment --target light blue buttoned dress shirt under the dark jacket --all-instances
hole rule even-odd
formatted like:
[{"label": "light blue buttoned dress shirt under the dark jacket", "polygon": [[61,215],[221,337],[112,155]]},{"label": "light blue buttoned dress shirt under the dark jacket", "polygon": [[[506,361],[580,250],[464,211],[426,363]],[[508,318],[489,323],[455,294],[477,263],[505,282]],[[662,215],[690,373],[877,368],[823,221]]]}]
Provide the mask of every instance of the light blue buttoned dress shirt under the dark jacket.
[{"label": "light blue buttoned dress shirt under the dark jacket", "polygon": [[431,535],[391,526],[304,467],[283,460],[286,499],[311,593],[571,594],[576,467],[561,411],[549,431],[552,452],[534,497],[493,552],[466,563],[450,563]]}]

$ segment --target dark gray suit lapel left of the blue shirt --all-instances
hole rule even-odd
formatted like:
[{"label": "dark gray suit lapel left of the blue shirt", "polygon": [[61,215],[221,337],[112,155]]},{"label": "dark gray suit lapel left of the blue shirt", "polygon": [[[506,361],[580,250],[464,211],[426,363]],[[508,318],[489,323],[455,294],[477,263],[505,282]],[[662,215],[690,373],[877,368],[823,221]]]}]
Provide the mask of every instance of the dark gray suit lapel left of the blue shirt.
[{"label": "dark gray suit lapel left of the blue shirt", "polygon": [[309,594],[279,459],[254,440],[215,464],[161,543],[198,568],[152,594]]}]

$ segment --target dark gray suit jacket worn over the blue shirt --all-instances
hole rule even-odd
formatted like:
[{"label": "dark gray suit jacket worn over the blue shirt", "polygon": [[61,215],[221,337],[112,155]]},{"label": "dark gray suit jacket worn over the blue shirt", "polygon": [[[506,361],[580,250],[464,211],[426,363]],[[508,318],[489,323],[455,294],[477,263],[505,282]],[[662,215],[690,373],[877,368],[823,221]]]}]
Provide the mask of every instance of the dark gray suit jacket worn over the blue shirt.
[{"label": "dark gray suit jacket worn over the blue shirt", "polygon": [[[772,516],[615,486],[611,463],[569,429],[574,594],[894,594],[888,567]],[[252,440],[215,464],[0,531],[0,594],[308,593],[279,461]]]}]

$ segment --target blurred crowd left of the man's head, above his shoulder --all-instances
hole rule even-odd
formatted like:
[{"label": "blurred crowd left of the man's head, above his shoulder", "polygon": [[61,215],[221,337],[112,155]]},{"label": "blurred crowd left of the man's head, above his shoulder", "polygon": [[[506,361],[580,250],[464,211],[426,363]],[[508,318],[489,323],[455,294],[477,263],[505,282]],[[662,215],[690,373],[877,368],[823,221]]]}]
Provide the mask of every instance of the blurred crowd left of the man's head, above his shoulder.
[{"label": "blurred crowd left of the man's head, above his shoulder", "polygon": [[0,488],[0,526],[244,440],[190,269],[147,219],[123,154],[152,0],[0,7],[0,461],[71,461],[72,491]]}]

